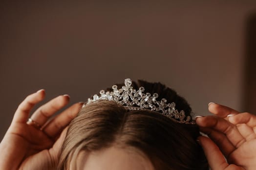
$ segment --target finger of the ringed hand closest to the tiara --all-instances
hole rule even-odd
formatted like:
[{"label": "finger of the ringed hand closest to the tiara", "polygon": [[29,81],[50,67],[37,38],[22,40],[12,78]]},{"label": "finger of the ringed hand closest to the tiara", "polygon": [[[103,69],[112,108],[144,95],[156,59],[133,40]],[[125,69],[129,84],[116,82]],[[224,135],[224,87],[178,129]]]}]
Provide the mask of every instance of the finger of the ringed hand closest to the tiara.
[{"label": "finger of the ringed hand closest to the tiara", "polygon": [[70,121],[77,116],[83,104],[84,102],[79,102],[64,110],[43,128],[43,132],[53,138],[58,136]]}]

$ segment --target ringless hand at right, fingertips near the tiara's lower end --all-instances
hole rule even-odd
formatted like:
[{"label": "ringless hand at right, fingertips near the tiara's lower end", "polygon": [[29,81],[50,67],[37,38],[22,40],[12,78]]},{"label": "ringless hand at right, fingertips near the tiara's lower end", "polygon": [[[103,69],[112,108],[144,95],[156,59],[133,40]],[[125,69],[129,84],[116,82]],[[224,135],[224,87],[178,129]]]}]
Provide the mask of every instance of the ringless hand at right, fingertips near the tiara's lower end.
[{"label": "ringless hand at right, fingertips near the tiara's lower end", "polygon": [[212,170],[255,170],[256,116],[215,103],[209,111],[215,116],[197,117],[196,123],[212,139],[198,138]]}]

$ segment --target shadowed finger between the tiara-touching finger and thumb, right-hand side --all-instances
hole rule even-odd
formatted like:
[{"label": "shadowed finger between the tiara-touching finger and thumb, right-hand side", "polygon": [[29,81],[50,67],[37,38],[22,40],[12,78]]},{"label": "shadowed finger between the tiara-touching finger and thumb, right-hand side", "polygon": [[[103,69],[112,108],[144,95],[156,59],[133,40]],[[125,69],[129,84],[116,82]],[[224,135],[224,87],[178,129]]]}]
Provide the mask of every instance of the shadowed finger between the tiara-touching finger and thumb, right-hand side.
[{"label": "shadowed finger between the tiara-touching finger and thumb, right-hand side", "polygon": [[208,135],[213,140],[213,142],[219,147],[219,149],[226,158],[228,158],[229,155],[233,151],[235,151],[235,146],[229,141],[227,136],[225,136],[223,133],[215,131],[214,129],[211,128],[204,127],[200,127],[200,131]]}]

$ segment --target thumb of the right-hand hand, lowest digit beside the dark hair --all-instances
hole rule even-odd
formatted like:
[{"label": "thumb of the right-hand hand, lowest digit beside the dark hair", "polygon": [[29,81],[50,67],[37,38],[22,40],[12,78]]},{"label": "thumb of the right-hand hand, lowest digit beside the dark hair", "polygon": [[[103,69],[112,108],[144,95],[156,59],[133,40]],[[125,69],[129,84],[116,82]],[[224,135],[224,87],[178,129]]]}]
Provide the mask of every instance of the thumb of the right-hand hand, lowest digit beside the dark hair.
[{"label": "thumb of the right-hand hand, lowest digit beside the dark hair", "polygon": [[244,170],[235,165],[229,165],[219,148],[214,142],[205,136],[198,137],[199,143],[202,146],[211,170]]}]

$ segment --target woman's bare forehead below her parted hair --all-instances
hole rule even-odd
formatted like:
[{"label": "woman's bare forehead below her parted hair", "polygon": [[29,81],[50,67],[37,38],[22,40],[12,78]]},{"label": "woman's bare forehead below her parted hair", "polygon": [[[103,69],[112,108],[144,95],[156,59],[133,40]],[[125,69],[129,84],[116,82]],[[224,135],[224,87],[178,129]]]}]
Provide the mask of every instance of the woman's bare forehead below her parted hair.
[{"label": "woman's bare forehead below her parted hair", "polygon": [[79,170],[154,170],[143,154],[116,147],[91,153],[81,152],[77,167]]}]

